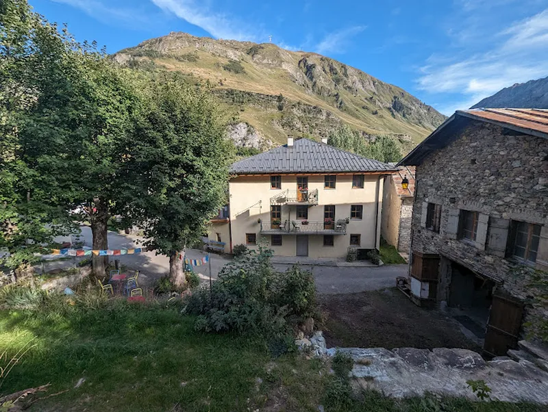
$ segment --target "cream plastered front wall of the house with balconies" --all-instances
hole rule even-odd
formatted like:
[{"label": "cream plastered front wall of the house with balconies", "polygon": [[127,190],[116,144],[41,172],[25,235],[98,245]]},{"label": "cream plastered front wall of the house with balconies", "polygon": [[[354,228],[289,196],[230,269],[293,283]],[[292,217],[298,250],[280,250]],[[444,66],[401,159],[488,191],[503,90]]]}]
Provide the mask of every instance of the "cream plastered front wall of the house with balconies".
[{"label": "cream plastered front wall of the house with balconies", "polygon": [[[379,175],[365,175],[364,188],[352,188],[352,175],[337,175],[336,188],[324,188],[323,175],[308,175],[308,189],[319,190],[319,205],[308,208],[310,222],[323,222],[324,205],[335,205],[335,220],[349,218],[351,205],[363,205],[362,220],[350,220],[347,235],[334,235],[334,246],[323,246],[323,235],[309,234],[310,257],[345,257],[350,234],[361,235],[361,248],[378,248],[382,211],[383,180]],[[271,189],[270,176],[240,176],[229,183],[232,245],[245,244],[246,233],[256,233],[260,239],[260,218],[270,222],[270,198],[284,190],[297,190],[297,176],[282,175],[282,188]],[[379,205],[377,208],[377,192]],[[259,203],[260,202],[260,203]],[[282,205],[282,222],[296,220],[296,207]],[[378,221],[378,229],[375,224]],[[375,237],[376,232],[376,237]],[[271,243],[271,236],[265,235]],[[272,246],[276,255],[295,256],[295,235],[283,235],[282,246]],[[253,248],[253,246],[250,246]]]}]

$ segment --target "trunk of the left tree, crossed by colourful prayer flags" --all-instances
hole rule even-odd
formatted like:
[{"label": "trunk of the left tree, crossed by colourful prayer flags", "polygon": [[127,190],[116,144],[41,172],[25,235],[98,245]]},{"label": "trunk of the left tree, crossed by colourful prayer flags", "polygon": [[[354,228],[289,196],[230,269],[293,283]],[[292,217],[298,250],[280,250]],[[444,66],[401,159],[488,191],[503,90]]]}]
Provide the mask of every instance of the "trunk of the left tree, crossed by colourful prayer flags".
[{"label": "trunk of the left tree, crossed by colourful prayer flags", "polygon": [[[108,249],[108,206],[105,201],[100,199],[94,200],[94,206],[90,213],[90,224],[92,233],[92,249],[107,250]],[[91,268],[92,276],[103,278],[106,276],[106,268],[108,266],[108,256],[92,255]]]}]

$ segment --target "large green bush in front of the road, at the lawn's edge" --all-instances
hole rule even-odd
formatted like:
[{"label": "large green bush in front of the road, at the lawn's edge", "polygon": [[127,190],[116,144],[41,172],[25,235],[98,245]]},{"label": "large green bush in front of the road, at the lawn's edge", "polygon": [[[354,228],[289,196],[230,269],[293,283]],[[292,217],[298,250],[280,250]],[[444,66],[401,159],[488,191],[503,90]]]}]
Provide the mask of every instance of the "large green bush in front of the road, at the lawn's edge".
[{"label": "large green bush in front of the road, at the lawn's edge", "polygon": [[314,278],[298,266],[285,273],[271,265],[272,250],[242,255],[228,263],[209,289],[187,298],[186,311],[198,315],[201,331],[238,331],[284,335],[313,316]]}]

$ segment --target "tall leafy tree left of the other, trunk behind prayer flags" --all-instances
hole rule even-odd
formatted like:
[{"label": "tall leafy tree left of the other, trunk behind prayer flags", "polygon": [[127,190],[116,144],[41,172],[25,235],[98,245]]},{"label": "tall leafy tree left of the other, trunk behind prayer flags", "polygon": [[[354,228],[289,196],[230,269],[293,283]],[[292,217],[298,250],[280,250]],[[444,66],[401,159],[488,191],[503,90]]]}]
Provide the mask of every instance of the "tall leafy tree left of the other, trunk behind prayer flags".
[{"label": "tall leafy tree left of the other, trunk behind prayer flags", "polygon": [[[6,128],[14,137],[8,153],[28,177],[26,188],[18,184],[6,196],[65,214],[83,207],[79,218],[90,222],[93,248],[108,248],[108,219],[141,197],[120,179],[140,110],[136,72],[111,62],[95,44],[79,44],[25,1],[3,4],[8,23],[1,27],[1,50],[11,73]],[[92,263],[102,276],[106,258],[94,256]]]}]

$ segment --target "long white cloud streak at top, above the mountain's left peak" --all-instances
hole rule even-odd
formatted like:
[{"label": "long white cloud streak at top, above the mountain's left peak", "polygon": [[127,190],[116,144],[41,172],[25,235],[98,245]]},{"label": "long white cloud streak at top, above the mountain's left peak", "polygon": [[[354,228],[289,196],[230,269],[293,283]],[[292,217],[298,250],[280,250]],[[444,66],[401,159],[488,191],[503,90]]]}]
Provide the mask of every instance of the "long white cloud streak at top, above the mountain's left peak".
[{"label": "long white cloud streak at top, above the mountain's left peak", "polygon": [[264,38],[264,34],[257,33],[258,28],[251,29],[237,18],[224,13],[208,10],[192,0],[151,0],[155,5],[175,14],[188,23],[201,27],[215,38],[231,40],[252,40]]}]

